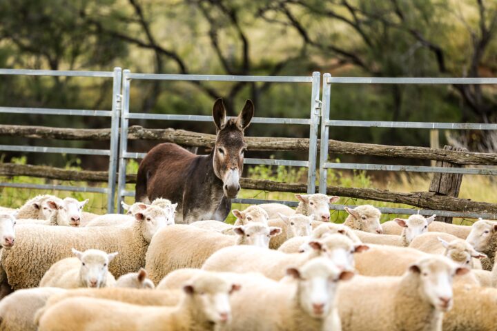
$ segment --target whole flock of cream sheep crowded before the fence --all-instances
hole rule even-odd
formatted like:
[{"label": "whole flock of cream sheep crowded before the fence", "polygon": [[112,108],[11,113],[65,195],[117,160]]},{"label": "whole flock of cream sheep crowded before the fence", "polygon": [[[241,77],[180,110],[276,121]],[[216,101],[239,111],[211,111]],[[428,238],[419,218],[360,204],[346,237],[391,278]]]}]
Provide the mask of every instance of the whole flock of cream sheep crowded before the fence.
[{"label": "whole flock of cream sheep crowded before the fence", "polygon": [[497,330],[496,222],[360,205],[335,224],[338,197],[295,197],[234,225],[175,224],[166,199],[0,208],[0,330]]}]

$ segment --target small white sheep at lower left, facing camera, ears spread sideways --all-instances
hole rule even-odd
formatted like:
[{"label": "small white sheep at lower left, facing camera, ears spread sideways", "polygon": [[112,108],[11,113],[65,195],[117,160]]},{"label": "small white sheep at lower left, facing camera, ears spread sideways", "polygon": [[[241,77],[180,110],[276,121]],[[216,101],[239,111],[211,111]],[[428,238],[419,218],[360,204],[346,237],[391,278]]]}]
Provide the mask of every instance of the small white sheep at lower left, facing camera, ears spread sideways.
[{"label": "small white sheep at lower left, facing camera, ears spread sideways", "polygon": [[117,252],[79,252],[72,248],[72,253],[76,257],[61,259],[48,269],[41,278],[40,287],[105,288],[115,284],[115,278],[108,272],[108,265],[117,256]]}]

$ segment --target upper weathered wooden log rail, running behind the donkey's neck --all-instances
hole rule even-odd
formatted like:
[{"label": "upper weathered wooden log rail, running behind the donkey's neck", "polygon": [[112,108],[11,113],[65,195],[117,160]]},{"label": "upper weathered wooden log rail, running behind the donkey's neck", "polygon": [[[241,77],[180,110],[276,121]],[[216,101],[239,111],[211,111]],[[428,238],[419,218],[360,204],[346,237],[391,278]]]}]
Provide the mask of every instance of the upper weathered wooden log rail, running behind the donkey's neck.
[{"label": "upper weathered wooden log rail, running behind the donkey's neck", "polygon": [[[106,141],[110,139],[110,129],[67,129],[43,126],[0,125],[0,137],[2,136]],[[159,140],[178,143],[182,146],[212,147],[215,135],[171,128],[146,129],[141,126],[131,126],[129,128],[128,139]],[[309,150],[309,139],[304,138],[246,137],[245,139],[249,150]],[[329,152],[331,154],[435,160],[462,165],[497,165],[497,154],[494,153],[442,150],[417,146],[387,146],[330,140]]]}]

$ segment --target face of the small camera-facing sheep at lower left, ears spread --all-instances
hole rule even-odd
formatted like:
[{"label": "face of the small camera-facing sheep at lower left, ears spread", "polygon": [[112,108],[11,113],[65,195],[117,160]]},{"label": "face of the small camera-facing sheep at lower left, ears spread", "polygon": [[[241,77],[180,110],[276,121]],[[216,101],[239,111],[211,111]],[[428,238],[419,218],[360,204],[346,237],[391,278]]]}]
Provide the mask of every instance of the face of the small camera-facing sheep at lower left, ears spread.
[{"label": "face of the small camera-facing sheep at lower left, ears spread", "polygon": [[107,254],[101,250],[86,250],[79,252],[72,248],[72,252],[81,261],[79,279],[88,288],[103,288],[107,281],[108,264],[116,257],[117,252]]}]

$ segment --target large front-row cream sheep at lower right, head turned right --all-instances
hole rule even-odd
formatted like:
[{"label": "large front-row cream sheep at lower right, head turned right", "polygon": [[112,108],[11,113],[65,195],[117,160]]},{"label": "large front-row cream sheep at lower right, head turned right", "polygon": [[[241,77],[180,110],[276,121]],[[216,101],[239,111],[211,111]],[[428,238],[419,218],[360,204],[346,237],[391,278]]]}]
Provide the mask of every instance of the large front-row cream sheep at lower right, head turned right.
[{"label": "large front-row cream sheep at lower right, head turned right", "polygon": [[441,330],[454,302],[454,274],[467,272],[433,255],[410,265],[402,277],[356,276],[338,288],[342,330]]}]

